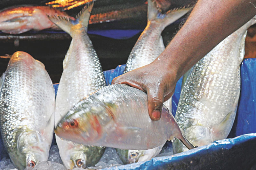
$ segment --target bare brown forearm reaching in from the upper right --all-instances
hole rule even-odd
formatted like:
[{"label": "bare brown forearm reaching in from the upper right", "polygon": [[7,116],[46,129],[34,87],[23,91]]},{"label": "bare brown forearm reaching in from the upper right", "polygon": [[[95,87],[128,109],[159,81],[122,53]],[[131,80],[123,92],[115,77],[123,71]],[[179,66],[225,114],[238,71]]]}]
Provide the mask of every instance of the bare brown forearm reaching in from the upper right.
[{"label": "bare brown forearm reaching in from the upper right", "polygon": [[165,63],[178,80],[220,41],[256,15],[253,4],[256,0],[198,0],[186,23],[155,62]]}]

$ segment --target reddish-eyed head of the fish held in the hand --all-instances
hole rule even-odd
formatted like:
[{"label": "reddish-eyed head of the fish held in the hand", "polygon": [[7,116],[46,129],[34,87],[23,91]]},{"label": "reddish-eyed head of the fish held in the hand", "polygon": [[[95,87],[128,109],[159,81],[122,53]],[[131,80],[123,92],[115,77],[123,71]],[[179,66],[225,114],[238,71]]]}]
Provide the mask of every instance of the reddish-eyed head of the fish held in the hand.
[{"label": "reddish-eyed head of the fish held in the hand", "polygon": [[94,145],[110,118],[103,103],[76,105],[60,120],[54,132],[78,144]]}]

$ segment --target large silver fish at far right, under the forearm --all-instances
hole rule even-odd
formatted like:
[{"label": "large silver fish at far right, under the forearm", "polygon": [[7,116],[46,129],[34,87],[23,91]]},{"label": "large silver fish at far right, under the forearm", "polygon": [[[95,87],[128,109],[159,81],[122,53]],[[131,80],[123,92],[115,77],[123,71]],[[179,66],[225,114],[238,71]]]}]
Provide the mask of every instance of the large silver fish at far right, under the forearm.
[{"label": "large silver fish at far right, under the forearm", "polygon": [[[181,89],[176,120],[193,145],[227,138],[240,95],[244,41],[255,17],[221,41],[192,67]],[[179,141],[173,152],[187,150]]]}]

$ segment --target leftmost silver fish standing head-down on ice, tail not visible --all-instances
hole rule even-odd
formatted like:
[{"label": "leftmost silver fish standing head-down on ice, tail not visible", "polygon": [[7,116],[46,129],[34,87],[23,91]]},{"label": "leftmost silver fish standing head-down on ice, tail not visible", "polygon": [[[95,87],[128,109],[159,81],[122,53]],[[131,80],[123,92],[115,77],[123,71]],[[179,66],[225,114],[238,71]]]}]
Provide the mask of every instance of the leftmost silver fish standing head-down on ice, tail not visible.
[{"label": "leftmost silver fish standing head-down on ice, tail not visible", "polygon": [[48,159],[54,130],[55,95],[44,64],[28,53],[12,54],[0,80],[1,135],[15,167]]}]

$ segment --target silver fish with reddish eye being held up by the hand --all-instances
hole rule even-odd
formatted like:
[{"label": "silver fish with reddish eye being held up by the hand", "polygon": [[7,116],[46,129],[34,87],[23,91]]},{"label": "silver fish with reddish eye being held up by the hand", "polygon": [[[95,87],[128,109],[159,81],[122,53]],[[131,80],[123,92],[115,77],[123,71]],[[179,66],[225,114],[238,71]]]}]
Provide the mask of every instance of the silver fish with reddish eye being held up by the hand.
[{"label": "silver fish with reddish eye being held up by the hand", "polygon": [[124,84],[86,96],[61,119],[55,134],[83,145],[133,150],[152,149],[176,137],[194,148],[164,105],[160,120],[152,121],[147,94]]}]

